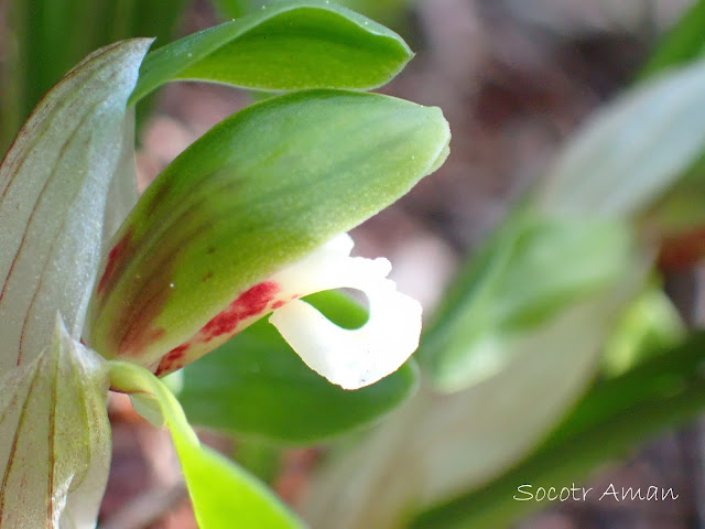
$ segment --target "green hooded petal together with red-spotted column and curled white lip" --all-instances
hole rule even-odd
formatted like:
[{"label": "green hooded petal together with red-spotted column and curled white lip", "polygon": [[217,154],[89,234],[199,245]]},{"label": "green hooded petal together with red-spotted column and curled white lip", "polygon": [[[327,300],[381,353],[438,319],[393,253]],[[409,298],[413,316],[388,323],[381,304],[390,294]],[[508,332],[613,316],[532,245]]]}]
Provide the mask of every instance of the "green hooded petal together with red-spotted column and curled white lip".
[{"label": "green hooded petal together with red-spotted column and curled white lip", "polygon": [[[349,119],[356,112],[378,115],[372,132]],[[346,231],[433,172],[448,141],[438,109],[369,94],[291,95],[239,112],[177,158],[113,238],[87,342],[165,375],[272,313],[334,384],[393,373],[419,344],[421,306],[386,279],[386,259],[349,257]],[[338,288],[367,295],[362,327],[340,328],[300,300]]]}]

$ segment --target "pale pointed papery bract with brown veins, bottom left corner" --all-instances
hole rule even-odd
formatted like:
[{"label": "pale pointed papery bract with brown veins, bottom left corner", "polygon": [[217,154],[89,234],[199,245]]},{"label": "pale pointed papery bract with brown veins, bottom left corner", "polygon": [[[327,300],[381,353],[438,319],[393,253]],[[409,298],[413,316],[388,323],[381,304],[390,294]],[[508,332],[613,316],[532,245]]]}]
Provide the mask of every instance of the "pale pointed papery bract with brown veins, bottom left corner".
[{"label": "pale pointed papery bract with brown veins, bottom left corner", "polygon": [[42,355],[0,377],[0,527],[95,526],[110,467],[107,395],[102,358],[58,320]]}]

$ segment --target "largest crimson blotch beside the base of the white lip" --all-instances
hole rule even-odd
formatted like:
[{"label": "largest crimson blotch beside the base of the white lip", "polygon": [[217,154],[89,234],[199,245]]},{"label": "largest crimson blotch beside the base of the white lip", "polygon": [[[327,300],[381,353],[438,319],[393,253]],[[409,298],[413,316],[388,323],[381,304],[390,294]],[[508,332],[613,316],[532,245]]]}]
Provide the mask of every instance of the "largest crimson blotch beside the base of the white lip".
[{"label": "largest crimson blotch beside the base of the white lip", "polygon": [[213,338],[232,333],[242,320],[264,312],[276,292],[279,292],[279,285],[273,281],[256,284],[240,294],[225,311],[206,323],[198,332],[200,339],[210,342]]}]

